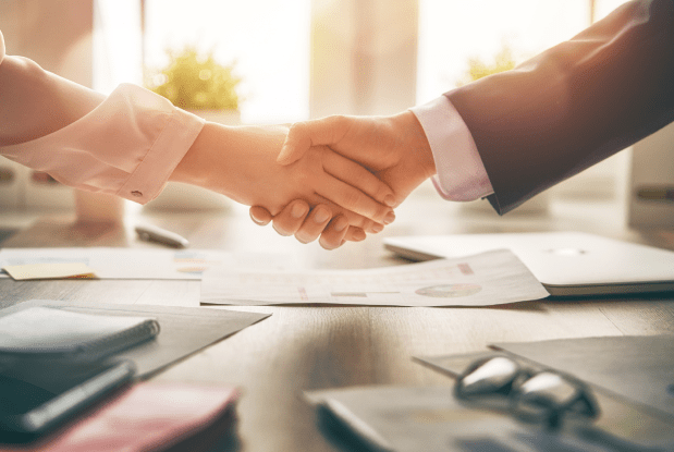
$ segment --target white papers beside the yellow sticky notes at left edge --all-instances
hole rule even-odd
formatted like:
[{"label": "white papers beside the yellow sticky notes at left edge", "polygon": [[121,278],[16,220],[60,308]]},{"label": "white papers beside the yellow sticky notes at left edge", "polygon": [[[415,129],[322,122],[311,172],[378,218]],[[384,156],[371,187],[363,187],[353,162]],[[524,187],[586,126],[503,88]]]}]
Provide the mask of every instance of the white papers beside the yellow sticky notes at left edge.
[{"label": "white papers beside the yellow sticky notes at left edge", "polygon": [[[232,265],[233,261],[230,253],[209,249],[106,247],[0,249],[0,268],[45,265],[69,269],[70,266],[86,266],[86,268],[93,269],[99,279],[199,280],[207,268],[217,265]],[[41,278],[40,274],[42,274]],[[34,276],[37,279],[54,278],[47,276],[47,273]]]}]

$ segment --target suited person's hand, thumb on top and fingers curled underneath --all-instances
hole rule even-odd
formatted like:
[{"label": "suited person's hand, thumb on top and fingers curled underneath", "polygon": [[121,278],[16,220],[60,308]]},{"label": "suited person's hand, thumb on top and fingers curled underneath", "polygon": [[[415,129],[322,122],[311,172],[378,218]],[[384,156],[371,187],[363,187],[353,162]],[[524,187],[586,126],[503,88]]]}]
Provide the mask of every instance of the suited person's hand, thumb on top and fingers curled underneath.
[{"label": "suited person's hand, thumb on top and fingers curled underneath", "polygon": [[[426,134],[410,111],[393,117],[328,117],[295,123],[278,160],[281,164],[290,164],[313,146],[320,145],[328,145],[364,164],[385,182],[395,193],[392,206],[402,203],[414,188],[436,173]],[[264,209],[254,208],[250,213],[266,222],[272,219],[271,213],[264,212]],[[277,230],[296,228],[295,236],[302,242],[315,240],[320,233],[304,223],[297,227],[285,210],[284,215],[273,217],[273,224]],[[321,245],[334,247],[336,243],[334,232],[323,230]]]}]

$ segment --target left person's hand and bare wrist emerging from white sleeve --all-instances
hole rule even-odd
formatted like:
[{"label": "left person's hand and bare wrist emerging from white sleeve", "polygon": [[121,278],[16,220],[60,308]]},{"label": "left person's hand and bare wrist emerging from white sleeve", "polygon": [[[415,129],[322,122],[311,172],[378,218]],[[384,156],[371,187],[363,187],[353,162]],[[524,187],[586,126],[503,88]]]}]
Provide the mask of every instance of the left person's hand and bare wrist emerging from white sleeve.
[{"label": "left person's hand and bare wrist emerging from white sleeve", "polygon": [[342,213],[350,224],[372,229],[391,212],[377,203],[391,190],[361,166],[315,147],[292,164],[277,157],[287,129],[225,127],[207,123],[171,175],[171,180],[200,185],[242,204],[264,206],[274,215],[293,199],[327,206],[330,216]]}]

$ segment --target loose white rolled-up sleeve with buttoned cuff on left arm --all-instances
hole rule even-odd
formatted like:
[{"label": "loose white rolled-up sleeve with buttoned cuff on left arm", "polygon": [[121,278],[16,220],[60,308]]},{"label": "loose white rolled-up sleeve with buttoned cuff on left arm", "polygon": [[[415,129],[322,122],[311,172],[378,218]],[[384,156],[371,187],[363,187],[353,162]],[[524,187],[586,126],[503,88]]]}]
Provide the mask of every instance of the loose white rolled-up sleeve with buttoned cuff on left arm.
[{"label": "loose white rolled-up sleeve with buttoned cuff on left arm", "polygon": [[161,193],[203,125],[163,97],[123,84],[73,123],[0,152],[63,184],[145,204]]}]

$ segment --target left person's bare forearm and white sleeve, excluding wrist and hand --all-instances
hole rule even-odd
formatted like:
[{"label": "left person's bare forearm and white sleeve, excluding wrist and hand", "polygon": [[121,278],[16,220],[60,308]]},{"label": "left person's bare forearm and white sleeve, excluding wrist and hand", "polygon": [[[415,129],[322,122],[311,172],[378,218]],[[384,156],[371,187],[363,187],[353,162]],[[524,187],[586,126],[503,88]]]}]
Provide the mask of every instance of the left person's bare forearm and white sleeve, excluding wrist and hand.
[{"label": "left person's bare forearm and white sleeve, excluding wrist and hand", "polygon": [[147,203],[204,125],[138,86],[106,97],[0,50],[0,155],[63,184]]}]

